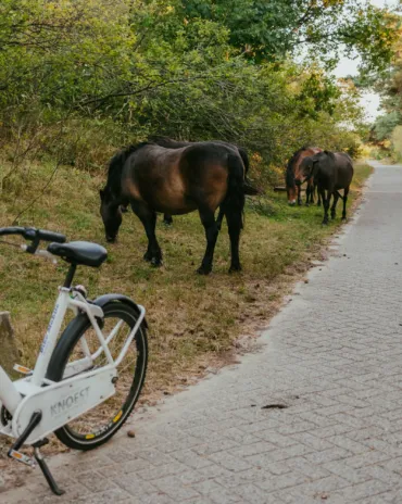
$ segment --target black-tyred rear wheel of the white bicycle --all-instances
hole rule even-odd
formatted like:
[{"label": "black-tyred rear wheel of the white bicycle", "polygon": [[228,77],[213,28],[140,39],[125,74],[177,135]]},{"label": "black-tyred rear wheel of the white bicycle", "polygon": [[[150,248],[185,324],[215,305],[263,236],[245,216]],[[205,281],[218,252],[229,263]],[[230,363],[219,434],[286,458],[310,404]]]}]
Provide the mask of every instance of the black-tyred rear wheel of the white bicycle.
[{"label": "black-tyred rear wheel of the white bicycle", "polygon": [[[137,311],[122,302],[110,302],[103,306],[104,320],[102,332],[108,338],[112,357],[116,358],[127,336],[138,320]],[[100,343],[87,316],[78,315],[61,336],[52,354],[47,378],[61,381],[66,376],[68,364],[86,356],[88,349],[91,354],[99,349]],[[65,445],[75,450],[92,450],[105,443],[126,421],[141,392],[146,378],[148,362],[148,342],[145,324],[141,324],[125,357],[117,367],[118,380],[115,383],[116,393],[58,429],[54,433]],[[108,364],[104,352],[86,369],[91,370]]]}]

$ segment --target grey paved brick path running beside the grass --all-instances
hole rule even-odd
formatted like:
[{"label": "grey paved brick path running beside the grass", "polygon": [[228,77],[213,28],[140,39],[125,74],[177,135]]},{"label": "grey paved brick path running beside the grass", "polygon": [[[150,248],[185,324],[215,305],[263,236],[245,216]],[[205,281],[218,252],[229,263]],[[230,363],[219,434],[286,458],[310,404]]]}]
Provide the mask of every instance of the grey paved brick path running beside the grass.
[{"label": "grey paved brick path running beside the grass", "polygon": [[401,503],[402,168],[365,199],[261,352],[135,417],[135,440],[54,457],[66,496],[38,475],[0,501]]}]

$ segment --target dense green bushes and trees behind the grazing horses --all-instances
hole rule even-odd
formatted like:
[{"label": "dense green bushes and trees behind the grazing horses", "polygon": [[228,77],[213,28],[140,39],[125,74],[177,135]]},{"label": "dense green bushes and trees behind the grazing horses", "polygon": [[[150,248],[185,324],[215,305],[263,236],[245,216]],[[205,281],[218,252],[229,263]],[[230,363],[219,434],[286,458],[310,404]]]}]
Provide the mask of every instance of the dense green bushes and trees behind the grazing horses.
[{"label": "dense green bushes and trees behind the grazing horses", "polygon": [[[91,167],[150,134],[272,164],[305,142],[353,150],[356,91],[317,60],[343,43],[381,67],[391,24],[365,0],[3,0],[0,142]],[[305,46],[314,58],[292,61]]]}]

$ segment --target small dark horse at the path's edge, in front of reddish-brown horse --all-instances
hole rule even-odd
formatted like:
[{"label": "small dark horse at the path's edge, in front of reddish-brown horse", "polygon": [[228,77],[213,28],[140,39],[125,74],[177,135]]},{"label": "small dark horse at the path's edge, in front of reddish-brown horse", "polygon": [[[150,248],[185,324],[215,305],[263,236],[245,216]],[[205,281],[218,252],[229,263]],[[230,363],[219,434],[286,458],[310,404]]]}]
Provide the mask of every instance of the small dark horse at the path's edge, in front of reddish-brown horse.
[{"label": "small dark horse at the path's edge, in front of reddish-brown horse", "polygon": [[[347,202],[349,188],[353,178],[353,163],[351,158],[343,152],[318,152],[312,156],[304,158],[296,184],[301,186],[305,180],[312,180],[318,187],[318,193],[324,204],[323,224],[328,224],[328,210],[330,198],[334,203],[330,209],[331,218],[335,218],[339,198],[343,201],[342,219],[347,218]],[[339,190],[343,189],[343,197]]]}]

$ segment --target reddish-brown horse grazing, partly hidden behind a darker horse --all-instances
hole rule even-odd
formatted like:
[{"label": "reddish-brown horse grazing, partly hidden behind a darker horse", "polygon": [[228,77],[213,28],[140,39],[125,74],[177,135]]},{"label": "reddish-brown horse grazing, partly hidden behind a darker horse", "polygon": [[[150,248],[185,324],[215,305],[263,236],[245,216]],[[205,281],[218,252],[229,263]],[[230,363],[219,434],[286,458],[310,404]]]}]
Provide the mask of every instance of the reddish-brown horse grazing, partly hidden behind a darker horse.
[{"label": "reddish-brown horse grazing, partly hidden behind a darker horse", "polygon": [[[299,177],[300,163],[304,158],[314,155],[322,152],[318,147],[302,147],[290,158],[286,168],[286,191],[288,193],[288,203],[290,205],[296,204],[296,197],[298,197],[298,204],[301,205],[301,187],[296,185],[296,179]],[[314,203],[314,181],[313,179],[307,181],[306,188],[306,202],[305,204]],[[321,205],[321,199],[318,194],[318,206]]]}]

